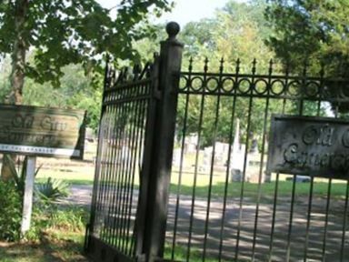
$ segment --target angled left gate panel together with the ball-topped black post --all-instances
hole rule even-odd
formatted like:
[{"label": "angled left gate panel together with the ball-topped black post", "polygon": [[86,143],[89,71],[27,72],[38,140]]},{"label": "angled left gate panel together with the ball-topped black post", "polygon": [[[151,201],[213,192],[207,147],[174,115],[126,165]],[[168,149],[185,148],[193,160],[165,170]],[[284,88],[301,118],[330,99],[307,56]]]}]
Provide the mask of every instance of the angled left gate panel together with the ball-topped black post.
[{"label": "angled left gate panel together with the ball-topped black post", "polygon": [[[85,237],[95,261],[163,256],[182,45],[166,27],[154,64],[118,76],[105,71],[91,218]],[[169,139],[170,138],[170,139]]]}]

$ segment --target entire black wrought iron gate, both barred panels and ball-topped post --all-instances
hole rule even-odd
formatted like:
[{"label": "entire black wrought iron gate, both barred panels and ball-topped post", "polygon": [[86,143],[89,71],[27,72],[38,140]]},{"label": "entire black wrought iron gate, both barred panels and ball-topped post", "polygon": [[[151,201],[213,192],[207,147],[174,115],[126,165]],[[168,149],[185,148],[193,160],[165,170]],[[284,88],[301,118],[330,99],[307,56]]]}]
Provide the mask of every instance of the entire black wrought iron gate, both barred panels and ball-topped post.
[{"label": "entire black wrought iron gate, both barred panels and ball-topped post", "polygon": [[167,29],[153,66],[132,80],[107,71],[87,254],[347,261],[349,182],[265,172],[272,115],[345,117],[347,79],[255,60],[212,73],[190,59],[180,72],[178,28]]}]

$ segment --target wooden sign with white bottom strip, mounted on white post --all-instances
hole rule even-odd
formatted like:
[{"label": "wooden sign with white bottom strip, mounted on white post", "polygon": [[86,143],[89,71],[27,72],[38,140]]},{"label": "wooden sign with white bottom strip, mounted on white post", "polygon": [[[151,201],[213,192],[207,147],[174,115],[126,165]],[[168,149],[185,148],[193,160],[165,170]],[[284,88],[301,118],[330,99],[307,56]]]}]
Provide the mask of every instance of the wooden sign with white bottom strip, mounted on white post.
[{"label": "wooden sign with white bottom strip, mounted on white post", "polygon": [[85,111],[0,105],[0,152],[83,158]]}]

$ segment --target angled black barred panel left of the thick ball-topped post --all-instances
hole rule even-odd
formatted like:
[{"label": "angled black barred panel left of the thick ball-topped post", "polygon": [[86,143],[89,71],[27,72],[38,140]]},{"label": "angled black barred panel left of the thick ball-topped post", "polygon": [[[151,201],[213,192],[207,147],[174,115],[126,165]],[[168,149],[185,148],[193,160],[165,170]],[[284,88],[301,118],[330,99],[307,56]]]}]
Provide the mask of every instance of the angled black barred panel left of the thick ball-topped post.
[{"label": "angled black barred panel left of the thick ball-topped post", "polygon": [[[94,244],[105,243],[116,257],[135,257],[139,166],[153,92],[150,66],[145,65],[142,72],[137,66],[133,72],[124,70],[118,79],[107,67],[89,236],[91,256],[102,261],[110,256],[94,254]],[[127,82],[130,77],[131,83]]]}]

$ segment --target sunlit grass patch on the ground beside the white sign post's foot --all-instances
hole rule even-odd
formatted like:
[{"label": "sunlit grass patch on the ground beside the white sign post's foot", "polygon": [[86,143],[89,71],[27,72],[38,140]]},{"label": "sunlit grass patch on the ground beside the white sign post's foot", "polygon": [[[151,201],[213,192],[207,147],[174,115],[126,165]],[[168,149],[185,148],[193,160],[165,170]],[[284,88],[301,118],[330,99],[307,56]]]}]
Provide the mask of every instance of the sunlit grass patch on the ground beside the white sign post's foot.
[{"label": "sunlit grass patch on the ground beside the white sign post's foot", "polygon": [[26,240],[0,242],[0,262],[88,261],[82,255],[88,210],[70,206],[45,210],[35,208]]}]

